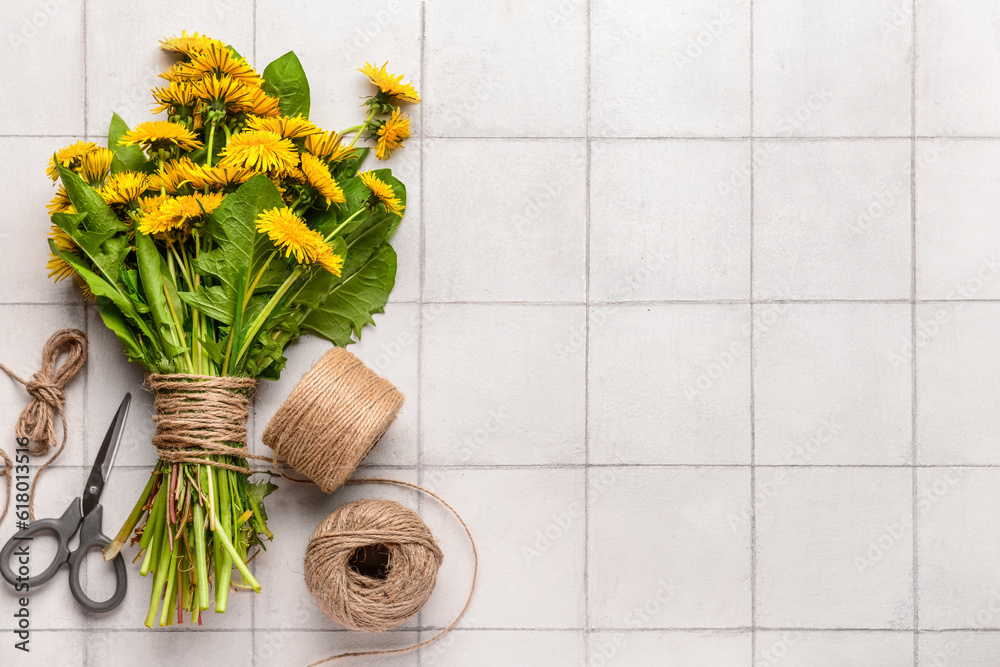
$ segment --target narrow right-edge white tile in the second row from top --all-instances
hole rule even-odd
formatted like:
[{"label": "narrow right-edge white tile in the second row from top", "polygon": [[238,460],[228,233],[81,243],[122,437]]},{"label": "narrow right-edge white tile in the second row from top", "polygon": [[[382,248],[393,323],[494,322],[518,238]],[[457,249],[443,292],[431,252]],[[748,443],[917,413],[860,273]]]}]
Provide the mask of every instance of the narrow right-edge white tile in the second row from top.
[{"label": "narrow right-edge white tile in the second row from top", "polygon": [[1000,146],[922,139],[917,169],[917,294],[924,299],[1000,298],[1000,207],[991,174]]}]

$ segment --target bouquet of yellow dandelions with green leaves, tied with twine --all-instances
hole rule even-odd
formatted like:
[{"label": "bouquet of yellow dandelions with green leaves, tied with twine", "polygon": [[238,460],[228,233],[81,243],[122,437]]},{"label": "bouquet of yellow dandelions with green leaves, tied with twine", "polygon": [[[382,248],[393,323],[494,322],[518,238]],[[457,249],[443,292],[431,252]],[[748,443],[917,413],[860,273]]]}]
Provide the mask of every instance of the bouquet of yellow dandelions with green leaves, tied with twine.
[{"label": "bouquet of yellow dandelions with green leaves, tied with twine", "polygon": [[51,275],[96,299],[157,397],[160,460],[105,550],[134,533],[154,575],[148,627],[184,611],[200,623],[213,576],[219,613],[231,587],[260,591],[247,563],[273,537],[262,500],[275,487],[247,479],[248,394],[303,332],[346,346],[382,311],[406,190],[388,169],[360,171],[369,149],[356,143],[367,135],[387,158],[410,134],[401,103],[420,100],[366,64],[367,119],[323,131],[294,53],[260,75],[198,33],[162,45],[179,56],[152,91],[167,120],[129,130],[116,114],[107,148],[73,144],[49,168],[62,182]]}]

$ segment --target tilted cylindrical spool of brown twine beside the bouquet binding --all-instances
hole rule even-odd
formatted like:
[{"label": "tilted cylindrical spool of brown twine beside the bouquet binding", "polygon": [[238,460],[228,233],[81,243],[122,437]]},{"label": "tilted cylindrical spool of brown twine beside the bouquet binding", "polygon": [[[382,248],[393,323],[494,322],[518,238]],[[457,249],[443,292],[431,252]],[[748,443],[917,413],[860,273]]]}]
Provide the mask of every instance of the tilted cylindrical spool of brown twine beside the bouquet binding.
[{"label": "tilted cylindrical spool of brown twine beside the bouquet binding", "polygon": [[261,436],[326,493],[350,478],[396,419],[403,394],[356,356],[335,347],[288,395]]}]

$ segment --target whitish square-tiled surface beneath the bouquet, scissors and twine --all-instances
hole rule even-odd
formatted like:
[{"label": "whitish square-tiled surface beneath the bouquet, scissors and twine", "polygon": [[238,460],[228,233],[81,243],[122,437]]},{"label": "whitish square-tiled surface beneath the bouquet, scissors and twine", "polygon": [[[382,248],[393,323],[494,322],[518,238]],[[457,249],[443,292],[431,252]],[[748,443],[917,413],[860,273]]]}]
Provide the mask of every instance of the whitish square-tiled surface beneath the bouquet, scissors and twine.
[{"label": "whitish square-tiled surface beneath the bouquet, scissors and twine", "polygon": [[[988,0],[4,3],[0,361],[32,371],[61,326],[91,339],[39,512],[77,492],[125,390],[109,525],[153,458],[141,372],[45,279],[48,155],[112,109],[148,117],[156,40],[182,29],[259,67],[294,49],[332,127],[353,68],[389,60],[425,102],[391,165],[397,287],[355,350],[408,399],[362,474],[444,495],[481,575],[447,638],[357,664],[995,667],[998,25]],[[262,387],[255,439],[325,347]],[[0,433],[18,392],[0,381]],[[301,575],[316,523],[362,495],[420,508],[446,552],[420,616],[377,636],[336,628]],[[268,507],[260,596],[147,632],[146,581],[103,617],[57,582],[26,659],[0,589],[0,664],[304,665],[461,606],[471,554],[434,503],[292,487]]]}]

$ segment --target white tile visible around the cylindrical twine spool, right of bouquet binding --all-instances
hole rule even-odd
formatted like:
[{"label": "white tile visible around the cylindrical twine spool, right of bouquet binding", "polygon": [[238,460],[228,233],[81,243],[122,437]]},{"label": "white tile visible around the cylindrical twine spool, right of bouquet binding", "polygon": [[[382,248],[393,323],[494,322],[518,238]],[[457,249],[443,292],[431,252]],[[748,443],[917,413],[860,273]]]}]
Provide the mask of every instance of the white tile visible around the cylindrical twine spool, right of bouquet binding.
[{"label": "white tile visible around the cylindrical twine spool, right of bouquet binding", "polygon": [[[375,326],[361,331],[361,341],[348,350],[371,370],[393,383],[406,400],[396,421],[365,458],[366,465],[413,465],[417,460],[417,347],[420,309],[415,304],[391,304],[375,315]],[[272,450],[260,440],[267,423],[281,407],[302,376],[326,354],[331,343],[316,336],[303,336],[285,352],[288,364],[277,381],[261,381],[254,399],[256,426],[251,451],[270,456]]]}]

